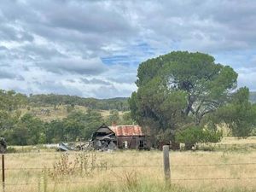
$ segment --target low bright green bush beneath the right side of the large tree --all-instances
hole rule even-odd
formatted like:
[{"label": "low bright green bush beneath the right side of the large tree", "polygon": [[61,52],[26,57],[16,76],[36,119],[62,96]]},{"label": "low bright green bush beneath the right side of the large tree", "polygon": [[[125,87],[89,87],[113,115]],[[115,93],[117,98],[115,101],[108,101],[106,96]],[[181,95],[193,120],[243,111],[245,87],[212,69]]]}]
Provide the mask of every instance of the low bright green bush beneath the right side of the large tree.
[{"label": "low bright green bush beneath the right side of the large tree", "polygon": [[196,143],[218,143],[221,138],[221,131],[205,130],[197,126],[188,127],[176,135],[176,141],[185,143],[185,149],[191,149]]}]

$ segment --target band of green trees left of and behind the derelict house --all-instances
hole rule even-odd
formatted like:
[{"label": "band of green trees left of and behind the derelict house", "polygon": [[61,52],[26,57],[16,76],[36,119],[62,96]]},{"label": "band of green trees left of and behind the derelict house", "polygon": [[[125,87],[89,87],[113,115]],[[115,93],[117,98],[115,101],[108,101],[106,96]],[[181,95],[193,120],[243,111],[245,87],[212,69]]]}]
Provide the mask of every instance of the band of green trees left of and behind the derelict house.
[{"label": "band of green trees left of and behind the derelict house", "polygon": [[132,123],[129,112],[120,116],[119,111],[114,109],[107,117],[102,117],[102,113],[90,108],[86,112],[71,110],[64,119],[45,122],[29,110],[21,114],[20,108],[27,105],[29,102],[25,95],[13,90],[0,90],[0,132],[9,144],[87,141],[102,123]]}]

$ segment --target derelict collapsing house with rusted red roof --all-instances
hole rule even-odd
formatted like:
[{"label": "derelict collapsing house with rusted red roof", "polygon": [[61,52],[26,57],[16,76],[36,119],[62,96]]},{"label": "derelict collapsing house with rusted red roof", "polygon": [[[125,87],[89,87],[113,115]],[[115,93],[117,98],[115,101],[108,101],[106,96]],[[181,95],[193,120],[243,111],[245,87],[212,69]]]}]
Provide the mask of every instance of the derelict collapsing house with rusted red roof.
[{"label": "derelict collapsing house with rusted red roof", "polygon": [[103,124],[92,135],[95,149],[148,149],[149,143],[143,129],[139,125]]}]

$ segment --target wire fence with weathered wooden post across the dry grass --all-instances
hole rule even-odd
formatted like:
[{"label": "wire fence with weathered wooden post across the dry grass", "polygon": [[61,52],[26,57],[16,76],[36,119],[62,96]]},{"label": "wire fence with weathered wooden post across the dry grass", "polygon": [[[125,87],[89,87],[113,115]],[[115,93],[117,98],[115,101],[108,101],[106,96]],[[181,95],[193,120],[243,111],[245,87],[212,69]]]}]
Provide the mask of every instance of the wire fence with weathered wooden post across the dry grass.
[{"label": "wire fence with weathered wooden post across the dry grass", "polygon": [[[57,154],[57,153],[49,153],[49,154]],[[59,154],[59,153],[58,153]],[[41,155],[41,154],[13,154],[13,155]],[[44,154],[42,154],[44,155]],[[76,183],[96,183],[96,181],[93,180],[84,180],[84,179],[76,179],[76,180],[72,180],[72,181],[55,181],[55,182],[49,182],[49,181],[45,181],[43,178],[43,182],[42,181],[38,181],[38,182],[24,182],[24,183],[9,183],[8,177],[6,177],[6,173],[9,172],[41,172],[42,174],[45,173],[45,167],[43,166],[37,166],[37,167],[9,167],[8,166],[8,162],[5,161],[5,155],[2,154],[2,186],[3,186],[3,192],[14,192],[14,189],[8,190],[8,187],[11,186],[34,186],[34,190],[33,191],[44,191],[46,192],[47,190],[45,189],[45,184],[76,184]],[[173,177],[172,176],[172,170],[178,167],[190,167],[190,168],[196,168],[196,167],[216,167],[216,166],[253,166],[253,168],[255,167],[256,162],[241,162],[241,163],[215,163],[215,164],[185,164],[185,165],[173,165],[172,161],[169,160],[169,147],[168,146],[164,146],[163,148],[163,161],[161,164],[159,165],[119,165],[119,166],[108,166],[109,170],[113,170],[113,169],[133,169],[133,168],[137,168],[137,169],[153,169],[153,168],[157,168],[157,169],[161,169],[162,170],[162,176],[163,178],[165,178],[165,182],[166,183],[174,183],[174,182],[179,182],[179,181],[218,181],[218,180],[254,180],[256,179],[256,175],[254,177]],[[88,166],[87,168],[92,168],[90,166]],[[93,168],[95,169],[102,169],[102,166],[93,166]],[[54,169],[53,167],[49,167],[47,168],[47,170],[52,170]],[[107,168],[106,168],[107,169]],[[44,177],[44,176],[43,176]],[[162,179],[163,180],[163,179]],[[109,183],[119,183],[122,182],[121,179],[110,179],[108,180]],[[20,189],[17,189],[16,191],[20,191]],[[21,190],[22,191],[22,190]],[[24,191],[26,191],[26,189],[24,189]]]}]

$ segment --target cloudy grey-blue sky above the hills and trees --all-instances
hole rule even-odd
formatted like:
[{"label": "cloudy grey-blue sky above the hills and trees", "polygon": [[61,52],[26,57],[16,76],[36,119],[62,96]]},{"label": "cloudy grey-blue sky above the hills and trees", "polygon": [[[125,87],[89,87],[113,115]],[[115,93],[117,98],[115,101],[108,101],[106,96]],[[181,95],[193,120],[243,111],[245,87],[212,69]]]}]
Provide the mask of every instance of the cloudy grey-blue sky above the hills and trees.
[{"label": "cloudy grey-blue sky above the hills and trees", "polygon": [[256,1],[1,0],[0,89],[109,98],[142,61],[200,51],[256,90]]}]

